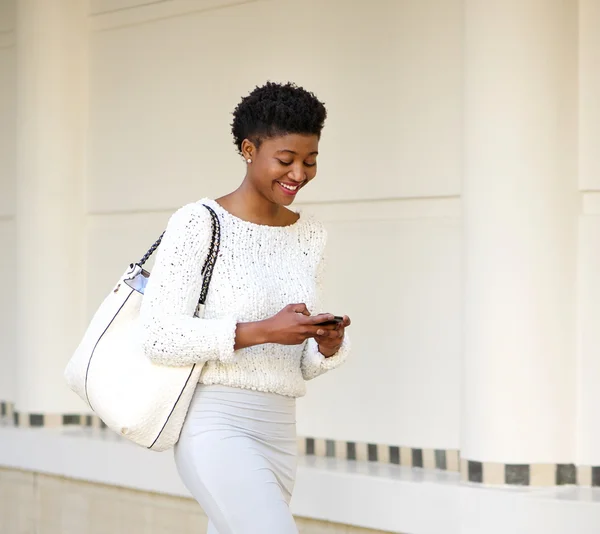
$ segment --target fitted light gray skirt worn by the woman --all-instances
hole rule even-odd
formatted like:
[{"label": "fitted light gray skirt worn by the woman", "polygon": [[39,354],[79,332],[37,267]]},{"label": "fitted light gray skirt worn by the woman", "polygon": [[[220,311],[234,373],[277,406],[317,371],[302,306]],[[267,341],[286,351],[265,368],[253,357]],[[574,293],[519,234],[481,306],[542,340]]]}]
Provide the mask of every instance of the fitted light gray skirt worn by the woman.
[{"label": "fitted light gray skirt worn by the woman", "polygon": [[209,534],[297,534],[294,398],[198,384],[175,462]]}]

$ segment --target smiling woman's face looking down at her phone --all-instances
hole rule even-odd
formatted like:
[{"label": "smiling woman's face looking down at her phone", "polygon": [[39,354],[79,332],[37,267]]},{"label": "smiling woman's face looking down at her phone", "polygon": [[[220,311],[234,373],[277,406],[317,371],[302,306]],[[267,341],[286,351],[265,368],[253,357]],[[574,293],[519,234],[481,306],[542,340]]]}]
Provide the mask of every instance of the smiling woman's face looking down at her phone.
[{"label": "smiling woman's face looking down at her phone", "polygon": [[298,191],[316,176],[318,149],[316,135],[273,137],[265,139],[259,149],[246,140],[242,154],[252,160],[247,178],[267,200],[289,206]]}]

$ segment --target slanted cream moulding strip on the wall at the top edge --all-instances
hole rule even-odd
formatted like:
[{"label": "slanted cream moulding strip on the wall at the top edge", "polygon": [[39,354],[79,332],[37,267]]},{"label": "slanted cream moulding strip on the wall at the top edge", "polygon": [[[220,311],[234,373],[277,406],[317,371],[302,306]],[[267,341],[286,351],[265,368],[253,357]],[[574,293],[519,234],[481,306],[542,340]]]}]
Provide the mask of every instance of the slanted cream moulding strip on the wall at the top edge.
[{"label": "slanted cream moulding strip on the wall at the top edge", "polygon": [[169,0],[168,2],[145,4],[135,8],[93,15],[91,30],[96,32],[114,30],[190,13],[213,11],[260,1],[262,0]]}]

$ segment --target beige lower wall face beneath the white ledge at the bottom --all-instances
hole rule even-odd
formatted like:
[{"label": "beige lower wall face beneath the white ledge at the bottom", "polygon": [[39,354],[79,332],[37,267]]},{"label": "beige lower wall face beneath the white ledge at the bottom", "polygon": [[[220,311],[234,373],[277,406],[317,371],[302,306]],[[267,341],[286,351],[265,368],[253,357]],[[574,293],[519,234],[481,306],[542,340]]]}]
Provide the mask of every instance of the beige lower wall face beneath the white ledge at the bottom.
[{"label": "beige lower wall face beneath the white ledge at the bottom", "polygon": [[[297,518],[300,534],[382,534]],[[2,534],[201,534],[207,519],[187,498],[0,468]]]}]

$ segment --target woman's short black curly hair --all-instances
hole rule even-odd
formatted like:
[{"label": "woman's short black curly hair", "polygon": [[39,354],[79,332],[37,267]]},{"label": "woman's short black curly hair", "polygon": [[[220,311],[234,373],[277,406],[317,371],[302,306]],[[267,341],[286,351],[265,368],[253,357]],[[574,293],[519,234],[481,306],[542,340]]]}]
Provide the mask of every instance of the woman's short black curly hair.
[{"label": "woman's short black curly hair", "polygon": [[327,110],[317,97],[294,83],[267,82],[244,97],[233,112],[231,133],[238,152],[244,139],[256,148],[264,139],[287,134],[321,137]]}]

